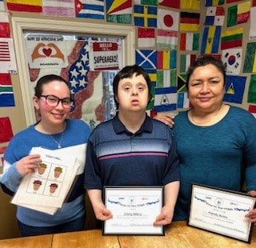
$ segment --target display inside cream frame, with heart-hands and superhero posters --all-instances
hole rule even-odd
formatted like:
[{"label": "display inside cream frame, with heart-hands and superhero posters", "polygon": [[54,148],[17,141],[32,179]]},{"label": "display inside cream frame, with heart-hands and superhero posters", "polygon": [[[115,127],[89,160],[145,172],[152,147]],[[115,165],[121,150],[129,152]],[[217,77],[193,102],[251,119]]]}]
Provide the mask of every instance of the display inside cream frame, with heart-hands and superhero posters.
[{"label": "display inside cream frame, with heart-hands and superhero posters", "polygon": [[[110,72],[122,69],[122,37],[27,31],[24,40],[30,98],[39,78],[58,74],[69,82],[74,99],[69,118],[82,119],[92,130],[109,119]],[[36,111],[35,118],[40,118]]]}]

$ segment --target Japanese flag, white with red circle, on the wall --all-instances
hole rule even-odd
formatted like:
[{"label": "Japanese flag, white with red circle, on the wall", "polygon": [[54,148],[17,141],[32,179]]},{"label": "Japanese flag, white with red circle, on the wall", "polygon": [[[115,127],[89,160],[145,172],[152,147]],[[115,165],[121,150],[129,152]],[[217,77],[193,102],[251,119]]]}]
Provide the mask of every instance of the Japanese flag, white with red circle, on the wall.
[{"label": "Japanese flag, white with red circle, on the wall", "polygon": [[179,13],[158,9],[158,29],[178,31]]}]

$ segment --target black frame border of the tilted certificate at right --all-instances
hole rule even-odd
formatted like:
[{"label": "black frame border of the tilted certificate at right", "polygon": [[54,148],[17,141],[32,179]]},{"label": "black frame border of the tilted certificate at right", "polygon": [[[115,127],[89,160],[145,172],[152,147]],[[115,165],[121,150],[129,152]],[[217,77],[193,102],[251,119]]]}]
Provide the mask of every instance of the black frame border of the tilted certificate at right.
[{"label": "black frame border of the tilted certificate at right", "polygon": [[191,194],[190,194],[190,206],[189,206],[189,214],[188,214],[188,220],[187,220],[187,226],[194,226],[200,230],[207,230],[209,231],[210,233],[214,233],[214,234],[219,234],[219,235],[222,235],[224,237],[228,237],[228,238],[234,238],[236,240],[239,240],[239,241],[242,241],[242,242],[246,242],[246,243],[249,243],[251,242],[251,236],[253,234],[253,229],[254,229],[254,225],[253,223],[250,223],[250,232],[249,232],[249,235],[248,235],[248,239],[245,240],[243,238],[235,238],[233,235],[228,235],[228,234],[222,234],[222,233],[218,233],[218,231],[214,231],[214,230],[210,230],[210,228],[202,228],[201,226],[197,226],[195,224],[193,224],[193,222],[190,221],[190,214],[192,212],[191,210],[191,207],[192,207],[192,198],[193,198],[193,192],[194,192],[194,188],[196,187],[201,187],[201,188],[204,188],[205,190],[214,190],[214,191],[222,191],[222,192],[226,192],[226,193],[230,193],[230,194],[237,194],[237,195],[240,195],[241,197],[244,196],[245,198],[252,198],[254,199],[254,206],[256,206],[256,198],[254,197],[250,197],[250,195],[246,194],[246,193],[242,193],[242,192],[238,192],[238,191],[234,191],[234,190],[226,190],[226,189],[222,189],[222,188],[218,188],[218,187],[214,187],[214,186],[206,186],[206,185],[203,185],[203,184],[198,184],[198,183],[192,183],[192,186],[191,186]]}]

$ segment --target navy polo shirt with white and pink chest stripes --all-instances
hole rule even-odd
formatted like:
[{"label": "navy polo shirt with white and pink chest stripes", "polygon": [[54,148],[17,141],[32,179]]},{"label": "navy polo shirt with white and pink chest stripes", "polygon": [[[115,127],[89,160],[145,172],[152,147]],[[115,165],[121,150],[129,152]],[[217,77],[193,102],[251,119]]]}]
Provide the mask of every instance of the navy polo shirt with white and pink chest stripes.
[{"label": "navy polo shirt with white and pink chest stripes", "polygon": [[179,181],[172,131],[147,116],[141,129],[132,134],[116,116],[91,134],[85,173],[86,189],[164,186]]}]

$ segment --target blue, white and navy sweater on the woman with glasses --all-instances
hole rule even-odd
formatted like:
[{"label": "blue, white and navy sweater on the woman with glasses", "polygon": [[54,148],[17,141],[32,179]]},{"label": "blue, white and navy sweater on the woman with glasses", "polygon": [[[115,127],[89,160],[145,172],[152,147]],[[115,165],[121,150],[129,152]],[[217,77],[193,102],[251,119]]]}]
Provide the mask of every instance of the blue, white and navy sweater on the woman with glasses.
[{"label": "blue, white and navy sweater on the woman with glasses", "polygon": [[[61,146],[70,156],[75,156],[85,164],[86,142],[90,135],[90,127],[81,120],[66,120],[66,130],[62,134],[54,134],[56,140],[60,140]],[[4,154],[4,174],[1,178],[3,190],[9,193],[16,192],[22,175],[16,170],[16,162],[30,154],[32,147],[41,146],[49,150],[56,150],[58,145],[49,134],[42,134],[34,129],[34,125],[22,130],[11,139]],[[83,169],[84,170],[84,169]],[[17,218],[20,222],[29,226],[55,226],[70,222],[85,213],[84,206],[84,173],[78,174],[75,184],[72,187],[67,203],[64,203],[54,215],[45,214],[26,207],[18,206]]]}]

